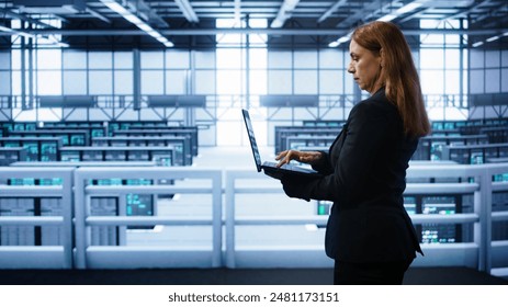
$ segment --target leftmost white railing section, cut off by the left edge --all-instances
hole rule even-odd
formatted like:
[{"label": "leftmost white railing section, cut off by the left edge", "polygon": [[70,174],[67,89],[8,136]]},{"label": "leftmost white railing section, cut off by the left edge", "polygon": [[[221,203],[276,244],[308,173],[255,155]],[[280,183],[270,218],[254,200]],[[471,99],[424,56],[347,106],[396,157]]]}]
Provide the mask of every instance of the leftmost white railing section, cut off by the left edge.
[{"label": "leftmost white railing section, cut off by the left edge", "polygon": [[[72,168],[0,168],[0,198],[59,198],[58,216],[0,216],[0,228],[59,227],[61,245],[0,246],[0,268],[10,269],[71,269],[72,268]],[[61,185],[8,185],[11,179],[58,179]],[[5,202],[7,203],[7,202]],[[12,203],[11,208],[16,211]],[[3,209],[7,209],[3,207]],[[18,230],[19,231],[19,230]],[[11,232],[11,236],[22,236]],[[30,230],[29,230],[30,231]],[[33,231],[33,228],[31,228]]]}]

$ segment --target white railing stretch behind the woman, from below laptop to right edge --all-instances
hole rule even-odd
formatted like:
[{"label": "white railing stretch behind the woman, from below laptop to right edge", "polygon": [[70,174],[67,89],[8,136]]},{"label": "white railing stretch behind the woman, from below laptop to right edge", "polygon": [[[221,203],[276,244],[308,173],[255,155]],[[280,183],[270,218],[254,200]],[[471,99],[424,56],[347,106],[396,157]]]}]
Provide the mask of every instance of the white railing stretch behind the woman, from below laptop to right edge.
[{"label": "white railing stretch behind the woman, from below laptop to right edge", "polygon": [[[462,178],[462,183],[409,183],[406,194],[473,194],[473,213],[460,213],[453,215],[411,215],[415,225],[421,224],[474,224],[473,242],[458,243],[428,243],[422,245],[426,257],[415,260],[415,266],[470,266],[481,271],[490,272],[493,265],[508,266],[508,241],[492,242],[492,221],[508,220],[508,213],[492,213],[492,192],[508,191],[508,183],[493,183],[493,174],[508,172],[508,164],[483,164],[483,166],[459,166],[443,163],[419,163],[408,170],[408,179],[416,178]],[[467,179],[474,178],[474,183]],[[314,224],[318,227],[326,225],[326,217],[256,217],[236,216],[235,195],[276,193],[281,187],[273,185],[272,189],[259,189],[256,186],[237,186],[241,179],[262,179],[251,171],[227,171],[226,172],[226,265],[228,268],[259,265],[262,257],[263,266],[327,266],[329,259],[324,257],[323,242],[315,247],[292,247],[238,249],[235,243],[236,226],[245,225],[307,225]],[[387,238],[390,239],[390,238]],[[492,243],[490,243],[492,242]]]}]

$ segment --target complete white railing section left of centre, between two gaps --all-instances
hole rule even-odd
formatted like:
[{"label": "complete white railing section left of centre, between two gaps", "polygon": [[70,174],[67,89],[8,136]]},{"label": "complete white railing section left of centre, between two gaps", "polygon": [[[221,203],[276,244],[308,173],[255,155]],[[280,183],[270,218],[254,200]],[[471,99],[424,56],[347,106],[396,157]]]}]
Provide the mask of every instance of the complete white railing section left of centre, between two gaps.
[{"label": "complete white railing section left of centre, between two gaps", "polygon": [[[205,179],[207,186],[178,185],[109,185],[92,186],[87,182],[100,179],[196,180]],[[128,193],[143,194],[211,194],[212,215],[188,218],[160,216],[91,216],[92,196],[125,198]],[[76,263],[86,268],[161,268],[161,266],[219,266],[222,249],[222,171],[194,168],[81,168],[75,171]],[[212,248],[165,248],[129,246],[91,246],[91,226],[147,226],[147,225],[210,225]],[[121,261],[118,261],[121,259]]]}]

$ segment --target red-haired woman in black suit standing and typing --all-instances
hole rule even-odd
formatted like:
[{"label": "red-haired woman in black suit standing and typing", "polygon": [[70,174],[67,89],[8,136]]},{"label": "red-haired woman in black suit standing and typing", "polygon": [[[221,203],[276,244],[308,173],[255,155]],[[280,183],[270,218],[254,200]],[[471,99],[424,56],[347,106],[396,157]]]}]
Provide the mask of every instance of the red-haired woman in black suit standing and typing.
[{"label": "red-haired woman in black suit standing and typing", "polygon": [[325,249],[336,284],[402,284],[422,254],[404,208],[406,169],[430,130],[419,78],[403,33],[393,23],[358,27],[349,46],[352,73],[371,96],[351,110],[329,152],[285,150],[279,166],[305,162],[321,179],[284,177],[291,197],[334,202]]}]

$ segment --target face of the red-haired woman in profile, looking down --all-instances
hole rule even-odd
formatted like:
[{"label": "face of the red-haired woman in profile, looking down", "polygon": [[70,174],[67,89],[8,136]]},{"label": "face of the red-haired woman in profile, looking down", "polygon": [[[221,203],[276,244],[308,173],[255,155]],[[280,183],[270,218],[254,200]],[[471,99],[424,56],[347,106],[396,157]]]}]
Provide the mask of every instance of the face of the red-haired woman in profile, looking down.
[{"label": "face of the red-haired woman in profile, looking down", "polygon": [[354,39],[349,44],[351,62],[348,72],[353,75],[360,89],[373,94],[377,91],[377,79],[381,73],[381,56],[360,46]]}]

